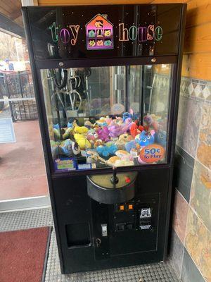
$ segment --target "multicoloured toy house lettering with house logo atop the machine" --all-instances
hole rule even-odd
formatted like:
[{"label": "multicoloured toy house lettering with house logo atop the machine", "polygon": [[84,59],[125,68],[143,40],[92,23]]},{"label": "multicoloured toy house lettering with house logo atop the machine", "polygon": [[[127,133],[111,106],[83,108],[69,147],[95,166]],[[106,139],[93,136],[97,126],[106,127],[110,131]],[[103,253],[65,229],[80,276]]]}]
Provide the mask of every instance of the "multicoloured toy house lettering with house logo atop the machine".
[{"label": "multicoloured toy house lettering with house logo atop the machine", "polygon": [[[67,25],[65,28],[59,28],[56,22],[49,27],[53,42],[62,42],[63,44],[77,44],[79,35],[79,25]],[[87,50],[101,50],[114,48],[114,28],[113,24],[107,19],[107,15],[98,14],[94,16],[86,25]],[[81,28],[82,30],[82,28]],[[118,25],[118,40],[120,42],[137,40],[138,42],[160,41],[162,39],[162,27],[143,25],[136,27],[132,25],[126,27],[124,23]]]}]

